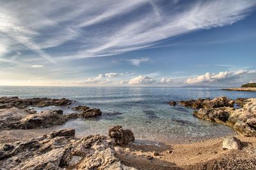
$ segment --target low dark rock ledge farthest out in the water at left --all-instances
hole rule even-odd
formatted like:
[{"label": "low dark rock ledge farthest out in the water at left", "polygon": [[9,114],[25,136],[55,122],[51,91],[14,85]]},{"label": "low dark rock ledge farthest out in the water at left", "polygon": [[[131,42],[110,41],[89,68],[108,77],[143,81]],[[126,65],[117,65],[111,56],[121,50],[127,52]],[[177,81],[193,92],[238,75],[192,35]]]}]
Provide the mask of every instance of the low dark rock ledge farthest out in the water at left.
[{"label": "low dark rock ledge farthest out in the water at left", "polygon": [[4,108],[20,108],[24,109],[28,106],[45,107],[45,106],[65,106],[72,104],[69,99],[49,99],[49,98],[33,98],[20,99],[19,97],[0,97],[0,109]]}]

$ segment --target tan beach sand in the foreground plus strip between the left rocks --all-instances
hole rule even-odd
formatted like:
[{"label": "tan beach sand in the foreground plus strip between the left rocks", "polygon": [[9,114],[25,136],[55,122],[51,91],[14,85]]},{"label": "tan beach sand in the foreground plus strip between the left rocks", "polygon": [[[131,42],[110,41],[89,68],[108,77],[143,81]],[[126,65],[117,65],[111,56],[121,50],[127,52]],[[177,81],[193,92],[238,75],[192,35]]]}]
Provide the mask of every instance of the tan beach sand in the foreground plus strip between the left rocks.
[{"label": "tan beach sand in the foreground plus strip between the left rocks", "polygon": [[[52,130],[54,128],[1,131],[0,143],[36,138]],[[223,138],[163,146],[134,143],[127,147],[116,146],[115,150],[123,164],[137,169],[221,169],[221,166],[253,169],[256,166],[256,138],[239,135],[236,138],[242,141],[242,150],[223,150]]]}]

